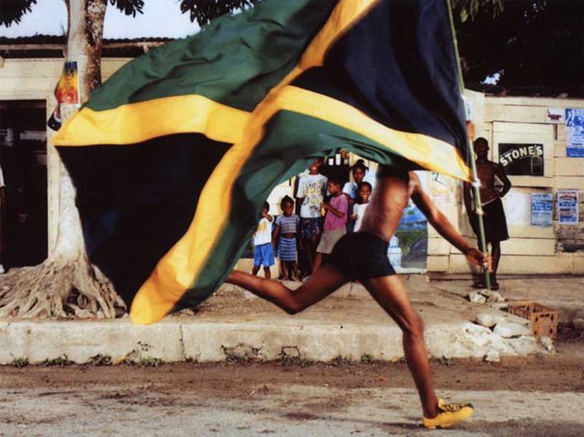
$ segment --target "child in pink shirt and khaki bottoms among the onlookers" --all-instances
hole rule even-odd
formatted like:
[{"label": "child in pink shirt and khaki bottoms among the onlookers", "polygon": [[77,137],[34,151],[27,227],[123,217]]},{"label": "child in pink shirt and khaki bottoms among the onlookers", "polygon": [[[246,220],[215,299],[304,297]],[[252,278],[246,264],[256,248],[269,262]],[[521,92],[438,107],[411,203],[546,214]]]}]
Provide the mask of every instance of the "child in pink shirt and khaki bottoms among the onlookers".
[{"label": "child in pink shirt and khaki bottoms among the onlookers", "polygon": [[329,255],[340,237],[347,234],[347,211],[349,208],[347,196],[340,191],[340,182],[334,178],[328,180],[328,192],[331,195],[329,203],[322,203],[327,214],[323,225],[324,230],[317,247],[314,273],[318,272],[323,255]]}]

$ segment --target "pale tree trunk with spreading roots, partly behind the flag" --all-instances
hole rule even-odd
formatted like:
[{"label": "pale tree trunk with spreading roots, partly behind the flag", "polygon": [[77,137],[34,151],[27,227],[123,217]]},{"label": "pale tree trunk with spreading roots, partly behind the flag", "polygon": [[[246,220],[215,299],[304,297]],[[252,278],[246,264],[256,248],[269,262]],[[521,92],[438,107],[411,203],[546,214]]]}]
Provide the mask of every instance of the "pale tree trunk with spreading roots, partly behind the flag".
[{"label": "pale tree trunk with spreading roots, partly behind the flag", "polygon": [[[67,60],[78,65],[79,99],[101,82],[101,40],[107,0],[66,0]],[[61,105],[65,119],[78,105]],[[0,316],[116,317],[124,304],[110,281],[89,263],[75,188],[60,162],[59,224],[55,247],[41,265],[14,269],[0,287]]]}]

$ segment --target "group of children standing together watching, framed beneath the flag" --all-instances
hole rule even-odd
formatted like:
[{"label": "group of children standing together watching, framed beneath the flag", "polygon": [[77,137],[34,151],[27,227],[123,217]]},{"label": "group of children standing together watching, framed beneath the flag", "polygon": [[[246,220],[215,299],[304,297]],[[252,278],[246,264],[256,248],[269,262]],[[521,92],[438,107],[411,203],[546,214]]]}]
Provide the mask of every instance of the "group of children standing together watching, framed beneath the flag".
[{"label": "group of children standing together watching, framed beneath the flag", "polygon": [[[370,182],[363,181],[367,167],[362,160],[357,161],[351,167],[353,181],[345,183],[341,189],[339,180],[320,173],[321,165],[321,159],[313,161],[308,172],[299,176],[299,216],[294,211],[294,200],[285,196],[280,203],[282,214],[277,216],[273,226],[269,204],[264,203],[254,234],[253,275],[257,275],[263,265],[266,278],[271,277],[270,267],[275,264],[274,246],[280,260],[280,279],[306,278],[318,271],[344,234],[360,230],[372,193]],[[302,271],[298,267],[298,254],[304,256]]]}]

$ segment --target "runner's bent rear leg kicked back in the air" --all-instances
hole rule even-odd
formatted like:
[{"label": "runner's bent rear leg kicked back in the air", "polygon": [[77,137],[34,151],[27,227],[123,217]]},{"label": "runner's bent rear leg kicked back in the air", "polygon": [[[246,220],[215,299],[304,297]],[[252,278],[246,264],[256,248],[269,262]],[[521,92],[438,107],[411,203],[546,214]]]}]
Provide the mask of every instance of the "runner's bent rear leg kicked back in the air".
[{"label": "runner's bent rear leg kicked back in the air", "polygon": [[229,275],[226,282],[244,287],[255,296],[276,304],[288,314],[297,314],[346,284],[347,277],[334,265],[324,265],[296,290],[291,290],[273,279],[252,276],[237,270]]}]

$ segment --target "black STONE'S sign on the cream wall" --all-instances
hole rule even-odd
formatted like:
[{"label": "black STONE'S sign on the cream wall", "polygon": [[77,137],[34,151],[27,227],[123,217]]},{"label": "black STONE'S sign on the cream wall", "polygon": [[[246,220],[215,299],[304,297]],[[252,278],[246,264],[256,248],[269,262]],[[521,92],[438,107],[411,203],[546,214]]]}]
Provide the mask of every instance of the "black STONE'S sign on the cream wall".
[{"label": "black STONE'S sign on the cream wall", "polygon": [[543,144],[499,143],[499,163],[511,176],[543,176]]}]

